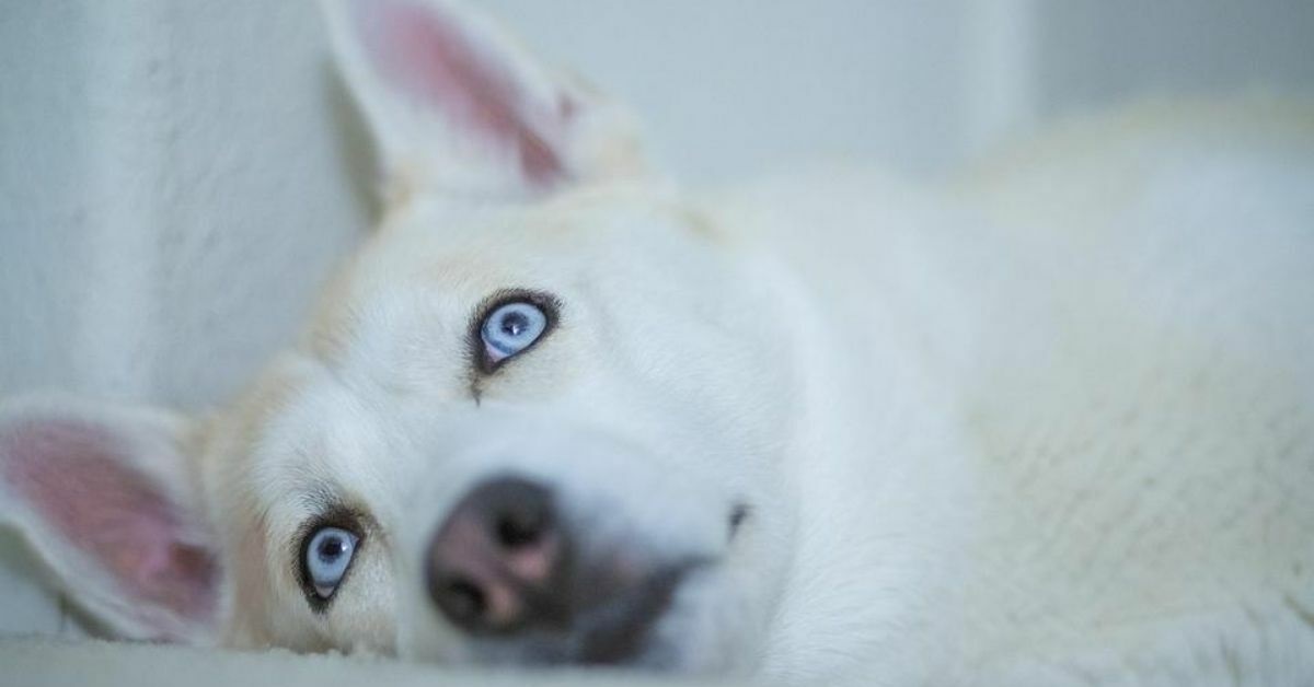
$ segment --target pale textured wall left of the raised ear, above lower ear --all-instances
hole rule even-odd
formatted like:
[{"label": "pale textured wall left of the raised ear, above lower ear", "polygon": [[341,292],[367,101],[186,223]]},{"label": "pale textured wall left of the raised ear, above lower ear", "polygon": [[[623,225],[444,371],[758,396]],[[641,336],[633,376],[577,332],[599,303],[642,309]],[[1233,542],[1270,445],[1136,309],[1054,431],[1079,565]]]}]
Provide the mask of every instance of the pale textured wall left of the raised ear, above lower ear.
[{"label": "pale textured wall left of the raised ear, above lower ear", "polygon": [[5,1],[0,389],[196,407],[364,214],[311,5]]}]

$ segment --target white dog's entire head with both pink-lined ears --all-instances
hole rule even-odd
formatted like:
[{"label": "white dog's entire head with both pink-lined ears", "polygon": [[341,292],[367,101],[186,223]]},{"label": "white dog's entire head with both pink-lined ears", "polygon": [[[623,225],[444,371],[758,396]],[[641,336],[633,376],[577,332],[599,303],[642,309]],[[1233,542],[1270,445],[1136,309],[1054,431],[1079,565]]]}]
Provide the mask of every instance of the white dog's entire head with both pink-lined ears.
[{"label": "white dog's entire head with both pink-lined ears", "polygon": [[750,665],[788,564],[788,324],[624,110],[438,0],[342,0],[380,227],[213,416],[0,420],[0,515],[122,636]]}]

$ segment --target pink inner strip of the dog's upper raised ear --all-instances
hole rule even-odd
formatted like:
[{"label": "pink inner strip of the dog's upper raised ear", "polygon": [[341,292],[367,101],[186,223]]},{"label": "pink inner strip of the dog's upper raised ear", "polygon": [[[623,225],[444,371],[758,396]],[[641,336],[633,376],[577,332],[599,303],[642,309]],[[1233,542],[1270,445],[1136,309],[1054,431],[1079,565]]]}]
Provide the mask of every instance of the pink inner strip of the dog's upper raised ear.
[{"label": "pink inner strip of the dog's upper raised ear", "polygon": [[[549,187],[566,176],[558,152],[527,121],[530,96],[515,75],[451,17],[398,0],[355,7],[365,51],[396,88],[423,99],[472,135],[514,147],[530,183]],[[576,105],[564,93],[545,112],[564,122]]]}]

